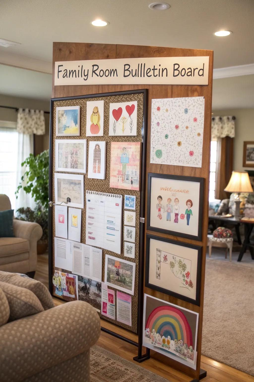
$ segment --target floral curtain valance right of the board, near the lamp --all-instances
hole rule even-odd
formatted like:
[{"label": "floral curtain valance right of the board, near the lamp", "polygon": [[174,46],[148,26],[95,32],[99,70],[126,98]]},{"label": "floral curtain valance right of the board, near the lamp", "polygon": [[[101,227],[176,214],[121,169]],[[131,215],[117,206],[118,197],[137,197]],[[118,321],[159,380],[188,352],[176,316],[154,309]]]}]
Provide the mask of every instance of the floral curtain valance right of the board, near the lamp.
[{"label": "floral curtain valance right of the board, near the lamp", "polygon": [[212,117],[212,140],[235,136],[235,117]]}]

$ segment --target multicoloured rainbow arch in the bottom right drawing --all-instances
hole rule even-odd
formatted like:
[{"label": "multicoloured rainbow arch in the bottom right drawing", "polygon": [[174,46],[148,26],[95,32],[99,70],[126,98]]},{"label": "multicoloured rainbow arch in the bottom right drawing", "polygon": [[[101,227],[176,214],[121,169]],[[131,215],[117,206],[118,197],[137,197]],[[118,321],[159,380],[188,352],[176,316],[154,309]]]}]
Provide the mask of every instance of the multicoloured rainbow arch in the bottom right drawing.
[{"label": "multicoloured rainbow arch in the bottom right drawing", "polygon": [[160,336],[171,338],[171,340],[182,340],[188,348],[193,346],[192,330],[185,315],[173,306],[158,306],[150,313],[145,329],[150,330],[150,333],[155,330]]}]

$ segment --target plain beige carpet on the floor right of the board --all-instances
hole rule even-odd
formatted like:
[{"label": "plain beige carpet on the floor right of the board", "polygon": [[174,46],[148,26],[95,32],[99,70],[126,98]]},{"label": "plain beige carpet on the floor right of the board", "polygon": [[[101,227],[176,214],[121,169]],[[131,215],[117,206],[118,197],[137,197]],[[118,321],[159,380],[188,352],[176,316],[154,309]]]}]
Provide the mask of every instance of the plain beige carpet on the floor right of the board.
[{"label": "plain beige carpet on the floor right of the board", "polygon": [[254,270],[206,259],[201,353],[254,375]]}]

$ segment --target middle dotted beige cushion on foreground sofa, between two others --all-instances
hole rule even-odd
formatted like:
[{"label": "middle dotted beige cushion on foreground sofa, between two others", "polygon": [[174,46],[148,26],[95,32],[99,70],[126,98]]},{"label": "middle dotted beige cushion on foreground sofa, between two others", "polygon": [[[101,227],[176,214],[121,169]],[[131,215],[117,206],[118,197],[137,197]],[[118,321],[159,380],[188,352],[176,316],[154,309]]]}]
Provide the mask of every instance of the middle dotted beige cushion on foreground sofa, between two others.
[{"label": "middle dotted beige cushion on foreground sofa, between two others", "polygon": [[10,306],[9,321],[44,311],[42,304],[30,290],[2,281],[0,281],[0,288],[5,293]]}]

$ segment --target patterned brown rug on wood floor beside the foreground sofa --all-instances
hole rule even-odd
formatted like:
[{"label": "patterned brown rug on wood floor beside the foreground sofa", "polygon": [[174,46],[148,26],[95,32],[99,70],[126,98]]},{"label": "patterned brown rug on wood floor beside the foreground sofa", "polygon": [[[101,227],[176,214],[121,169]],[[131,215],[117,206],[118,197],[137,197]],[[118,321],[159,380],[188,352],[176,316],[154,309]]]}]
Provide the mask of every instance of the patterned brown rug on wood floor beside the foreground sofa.
[{"label": "patterned brown rug on wood floor beside the foreground sofa", "polygon": [[90,352],[90,378],[91,382],[169,382],[97,345]]}]

